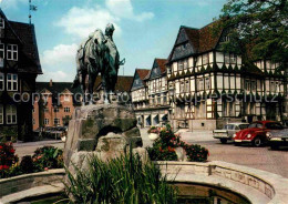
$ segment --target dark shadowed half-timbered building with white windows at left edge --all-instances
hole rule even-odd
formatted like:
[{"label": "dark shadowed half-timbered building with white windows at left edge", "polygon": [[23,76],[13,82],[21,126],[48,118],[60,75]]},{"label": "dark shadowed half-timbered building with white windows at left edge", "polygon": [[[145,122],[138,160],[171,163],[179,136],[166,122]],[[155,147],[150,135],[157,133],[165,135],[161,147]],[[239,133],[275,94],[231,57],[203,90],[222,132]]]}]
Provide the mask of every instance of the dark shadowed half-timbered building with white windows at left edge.
[{"label": "dark shadowed half-timbered building with white windows at left edge", "polygon": [[0,136],[32,140],[32,93],[41,74],[34,26],[0,9]]}]

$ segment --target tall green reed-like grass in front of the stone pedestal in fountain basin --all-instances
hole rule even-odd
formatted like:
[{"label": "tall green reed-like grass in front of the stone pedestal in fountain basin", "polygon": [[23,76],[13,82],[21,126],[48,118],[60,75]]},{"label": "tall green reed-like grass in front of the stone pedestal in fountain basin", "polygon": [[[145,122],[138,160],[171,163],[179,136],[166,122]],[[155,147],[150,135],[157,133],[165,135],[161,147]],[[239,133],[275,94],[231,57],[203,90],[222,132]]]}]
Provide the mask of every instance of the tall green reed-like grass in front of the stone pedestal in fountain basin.
[{"label": "tall green reed-like grass in front of the stone pedestal in fountain basin", "polygon": [[130,152],[107,162],[92,156],[86,171],[74,169],[75,176],[66,171],[71,183],[66,190],[73,197],[70,203],[176,203],[177,190],[152,162],[143,163],[137,154]]}]

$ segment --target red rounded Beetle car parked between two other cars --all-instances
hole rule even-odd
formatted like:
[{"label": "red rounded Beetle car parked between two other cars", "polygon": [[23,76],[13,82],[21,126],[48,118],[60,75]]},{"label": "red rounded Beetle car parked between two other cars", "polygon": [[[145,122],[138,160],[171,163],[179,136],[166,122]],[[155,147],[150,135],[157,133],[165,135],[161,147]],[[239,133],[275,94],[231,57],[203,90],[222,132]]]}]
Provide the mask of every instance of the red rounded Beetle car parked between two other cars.
[{"label": "red rounded Beetle car parked between two other cars", "polygon": [[269,130],[279,130],[282,125],[274,121],[258,121],[249,124],[248,129],[244,129],[234,134],[234,144],[240,145],[243,143],[249,143],[254,146],[261,146],[268,142],[266,133]]}]

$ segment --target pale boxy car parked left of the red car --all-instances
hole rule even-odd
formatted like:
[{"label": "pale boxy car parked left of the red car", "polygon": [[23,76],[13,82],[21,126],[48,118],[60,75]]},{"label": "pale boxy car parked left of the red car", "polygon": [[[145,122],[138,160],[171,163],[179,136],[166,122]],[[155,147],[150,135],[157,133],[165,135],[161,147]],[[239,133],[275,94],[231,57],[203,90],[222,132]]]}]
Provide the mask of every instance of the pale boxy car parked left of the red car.
[{"label": "pale boxy car parked left of the red car", "polygon": [[233,140],[233,135],[244,129],[247,129],[249,123],[228,123],[225,124],[222,130],[214,130],[213,137],[219,139],[223,144],[227,143],[228,140]]}]

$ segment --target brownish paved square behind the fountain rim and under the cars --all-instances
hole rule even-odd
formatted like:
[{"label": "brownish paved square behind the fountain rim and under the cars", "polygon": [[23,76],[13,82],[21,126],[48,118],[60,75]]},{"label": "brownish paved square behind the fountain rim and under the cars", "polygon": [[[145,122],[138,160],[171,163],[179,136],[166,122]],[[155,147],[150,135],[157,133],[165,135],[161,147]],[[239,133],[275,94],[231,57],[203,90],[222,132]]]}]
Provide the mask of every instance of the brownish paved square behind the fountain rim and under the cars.
[{"label": "brownish paved square behind the fountain rim and under the cars", "polygon": [[[147,136],[147,129],[141,130],[143,145],[152,145]],[[280,174],[288,177],[288,147],[281,147],[279,151],[271,151],[268,146],[234,146],[232,143],[222,144],[218,140],[213,139],[212,131],[194,131],[182,132],[181,136],[184,141],[194,144],[200,144],[209,150],[209,161],[224,161],[234,164],[255,167],[271,173]],[[43,145],[53,145],[64,147],[61,141],[41,141],[32,143],[16,143],[16,153],[22,157],[23,155],[32,155],[37,147]]]}]

